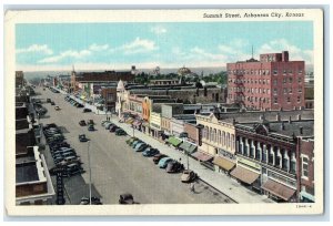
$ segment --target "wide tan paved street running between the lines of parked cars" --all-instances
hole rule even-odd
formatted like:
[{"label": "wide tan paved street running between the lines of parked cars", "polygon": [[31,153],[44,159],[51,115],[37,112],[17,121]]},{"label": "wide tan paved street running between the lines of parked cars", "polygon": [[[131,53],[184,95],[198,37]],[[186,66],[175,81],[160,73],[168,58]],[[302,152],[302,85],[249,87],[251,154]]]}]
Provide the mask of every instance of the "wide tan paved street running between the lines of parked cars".
[{"label": "wide tan paved street running between the lines of parked cars", "polygon": [[[190,192],[189,184],[180,181],[181,174],[168,174],[165,170],[160,170],[149,157],[143,157],[141,153],[135,153],[125,144],[129,136],[115,136],[104,130],[100,122],[105,116],[93,113],[82,113],[82,109],[72,106],[64,101],[64,95],[52,93],[50,90],[37,89],[36,97],[50,97],[60,106],[56,111],[49,103],[43,104],[48,109],[46,117],[40,121],[43,124],[56,123],[64,131],[68,143],[75,148],[81,156],[85,173],[82,177],[89,183],[88,167],[88,143],[80,143],[78,135],[84,133],[90,140],[91,173],[92,183],[97,192],[101,195],[104,204],[117,204],[119,195],[129,192],[134,199],[142,204],[195,204],[195,203],[231,203],[226,196],[216,189],[208,186],[203,182],[195,184],[196,193]],[[87,126],[80,126],[80,120],[93,120],[95,122],[94,132],[89,132]],[[72,181],[72,182],[71,182]],[[65,188],[71,194],[87,193],[87,186],[77,183],[73,177],[65,182]],[[72,186],[70,186],[72,185]],[[75,187],[77,186],[77,187]],[[82,192],[83,191],[83,192]],[[73,203],[78,204],[78,203]]]}]

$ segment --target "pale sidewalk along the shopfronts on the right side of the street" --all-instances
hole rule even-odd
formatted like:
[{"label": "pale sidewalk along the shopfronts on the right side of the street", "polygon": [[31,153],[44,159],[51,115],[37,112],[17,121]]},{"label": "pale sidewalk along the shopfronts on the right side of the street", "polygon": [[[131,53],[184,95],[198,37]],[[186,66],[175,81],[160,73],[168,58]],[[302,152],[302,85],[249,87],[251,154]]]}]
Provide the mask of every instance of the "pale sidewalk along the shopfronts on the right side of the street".
[{"label": "pale sidewalk along the shopfronts on the right side of the street", "polygon": [[[131,125],[125,124],[125,123],[119,123],[118,117],[111,119],[111,121],[122,127],[124,131],[127,131],[128,134],[132,135],[133,134],[133,129]],[[158,140],[148,136],[147,134],[143,134],[142,132],[135,130],[134,131],[134,136],[145,141],[153,147],[157,147],[160,150],[161,153],[164,153],[169,155],[170,157],[174,160],[182,158],[182,163],[184,166],[186,166],[186,155],[174,150],[173,147],[169,147],[168,145],[159,142]],[[230,198],[234,199],[236,203],[242,203],[242,204],[250,204],[250,203],[274,203],[270,198],[268,198],[264,195],[259,195],[242,185],[240,185],[236,181],[230,178],[228,175],[213,172],[205,166],[201,165],[198,161],[193,160],[192,157],[189,157],[189,165],[190,170],[193,170],[202,181],[205,183],[210,184],[214,188],[219,189]]]}]

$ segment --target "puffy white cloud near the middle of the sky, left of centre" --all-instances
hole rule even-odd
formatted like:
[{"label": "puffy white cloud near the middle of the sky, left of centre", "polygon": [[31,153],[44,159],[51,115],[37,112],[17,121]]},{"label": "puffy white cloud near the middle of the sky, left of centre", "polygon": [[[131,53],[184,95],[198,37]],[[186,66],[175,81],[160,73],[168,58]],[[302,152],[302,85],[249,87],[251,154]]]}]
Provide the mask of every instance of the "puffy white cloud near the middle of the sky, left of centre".
[{"label": "puffy white cloud near the middle of the sky, left of centre", "polygon": [[157,49],[158,47],[153,41],[147,39],[140,39],[139,37],[137,37],[134,41],[127,43],[120,48],[120,50],[123,50],[125,54],[151,52]]}]

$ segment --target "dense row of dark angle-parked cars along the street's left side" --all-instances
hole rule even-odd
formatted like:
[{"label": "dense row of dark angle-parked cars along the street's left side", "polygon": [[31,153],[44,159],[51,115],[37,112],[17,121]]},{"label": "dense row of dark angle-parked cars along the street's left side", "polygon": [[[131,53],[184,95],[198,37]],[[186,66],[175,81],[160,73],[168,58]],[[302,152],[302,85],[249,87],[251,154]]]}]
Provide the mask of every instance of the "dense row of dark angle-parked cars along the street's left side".
[{"label": "dense row of dark angle-parked cars along the street's left side", "polygon": [[63,136],[60,127],[58,127],[54,123],[47,124],[43,127],[43,132],[56,164],[56,167],[50,170],[51,175],[54,175],[57,167],[62,167],[62,175],[67,177],[83,173],[80,156],[78,156],[74,148],[65,142],[65,137]]}]

